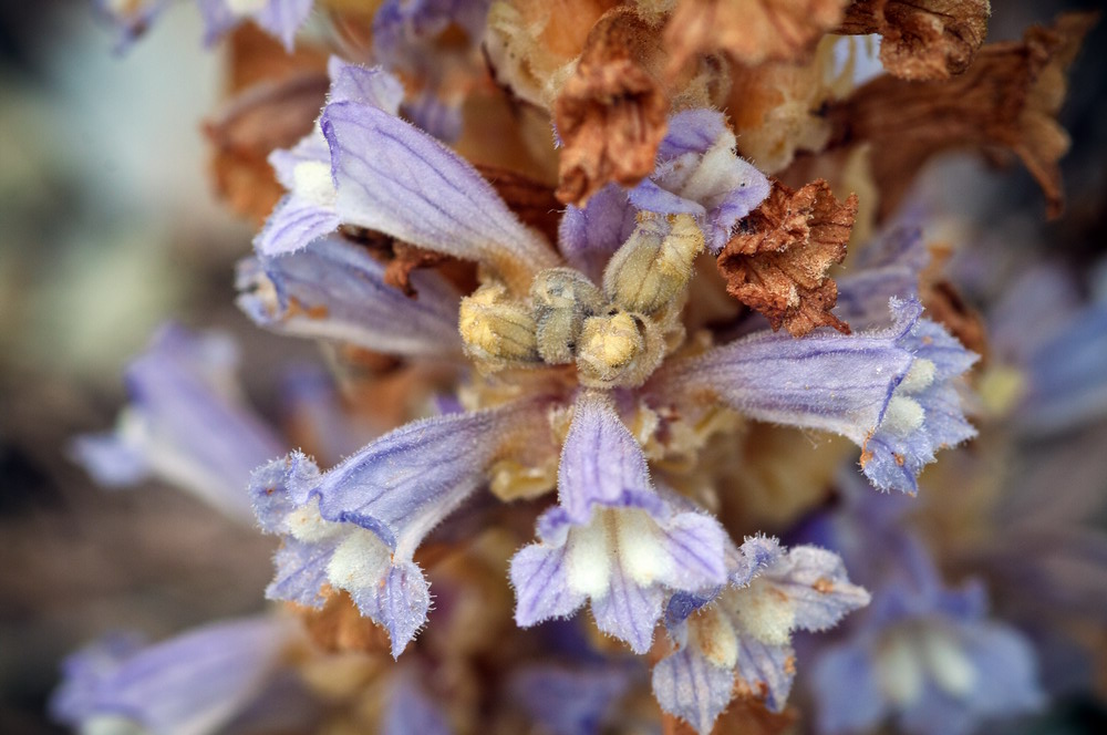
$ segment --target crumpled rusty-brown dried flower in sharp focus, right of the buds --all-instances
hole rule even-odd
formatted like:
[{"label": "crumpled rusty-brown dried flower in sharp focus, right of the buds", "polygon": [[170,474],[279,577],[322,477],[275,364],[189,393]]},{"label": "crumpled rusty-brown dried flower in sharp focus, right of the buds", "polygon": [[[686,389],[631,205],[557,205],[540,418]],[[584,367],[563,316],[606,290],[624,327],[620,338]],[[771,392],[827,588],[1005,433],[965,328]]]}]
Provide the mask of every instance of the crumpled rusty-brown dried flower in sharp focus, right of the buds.
[{"label": "crumpled rusty-brown dried flower in sharp focus, right of the buds", "polygon": [[774,182],[768,198],[718,256],[727,292],[793,337],[816,327],[849,333],[830,313],[838,287],[827,271],[846,257],[856,216],[857,195],[839,204],[823,179],[795,191]]}]

